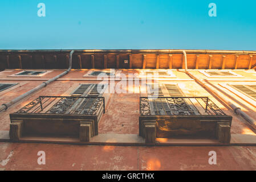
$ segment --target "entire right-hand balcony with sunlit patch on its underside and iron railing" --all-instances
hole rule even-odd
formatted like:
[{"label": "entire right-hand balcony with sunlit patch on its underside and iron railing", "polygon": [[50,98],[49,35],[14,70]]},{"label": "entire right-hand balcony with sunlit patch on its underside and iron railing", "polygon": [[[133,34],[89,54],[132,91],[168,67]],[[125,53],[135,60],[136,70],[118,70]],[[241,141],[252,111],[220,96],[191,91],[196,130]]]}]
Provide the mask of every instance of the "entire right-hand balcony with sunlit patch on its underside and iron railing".
[{"label": "entire right-hand balcony with sunlit patch on its underside and iron railing", "polygon": [[212,138],[230,142],[232,117],[208,97],[140,97],[139,135],[156,138]]}]

